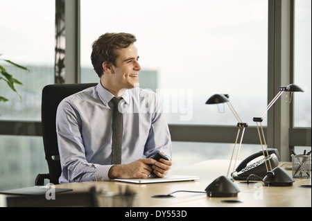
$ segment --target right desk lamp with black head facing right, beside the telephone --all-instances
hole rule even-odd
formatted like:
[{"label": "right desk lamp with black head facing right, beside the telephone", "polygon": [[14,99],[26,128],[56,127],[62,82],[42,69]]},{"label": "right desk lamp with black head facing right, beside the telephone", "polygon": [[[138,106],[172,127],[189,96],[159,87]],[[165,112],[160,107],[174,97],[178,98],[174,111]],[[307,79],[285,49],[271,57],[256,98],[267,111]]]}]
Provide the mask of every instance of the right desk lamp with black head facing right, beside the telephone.
[{"label": "right desk lamp with black head facing right, beside the telephone", "polygon": [[[291,92],[289,102],[291,102],[291,97],[293,96],[293,92],[297,92],[297,91],[303,92],[303,90],[300,87],[298,87],[297,85],[288,85],[286,87],[279,87],[279,93],[277,93],[275,98],[273,98],[273,100],[268,104],[266,109],[264,109],[263,112],[261,112],[260,116],[253,118],[253,121],[257,123],[259,140],[261,143],[264,162],[266,163],[266,172],[267,172],[266,174],[267,175],[266,175],[266,177],[263,178],[263,182],[266,186],[293,186],[293,182],[295,182],[293,177],[291,177],[291,175],[288,175],[286,170],[284,170],[283,168],[280,168],[280,167],[276,167],[272,170],[270,159],[268,160],[268,163],[266,162],[266,154],[268,156],[268,147],[266,145],[266,139],[264,138],[263,128],[262,128],[262,124],[261,124],[261,122],[263,121],[263,118],[262,118],[263,115],[266,114],[266,112],[268,112],[270,107],[272,107],[272,105],[274,105],[274,103],[279,99],[279,97],[281,96],[281,94],[284,93],[284,91]],[[259,129],[261,129],[261,134],[260,134]],[[262,143],[261,135],[262,135],[263,143]],[[263,145],[266,148],[266,154],[264,153]],[[269,164],[269,167],[268,167],[268,164]]]}]

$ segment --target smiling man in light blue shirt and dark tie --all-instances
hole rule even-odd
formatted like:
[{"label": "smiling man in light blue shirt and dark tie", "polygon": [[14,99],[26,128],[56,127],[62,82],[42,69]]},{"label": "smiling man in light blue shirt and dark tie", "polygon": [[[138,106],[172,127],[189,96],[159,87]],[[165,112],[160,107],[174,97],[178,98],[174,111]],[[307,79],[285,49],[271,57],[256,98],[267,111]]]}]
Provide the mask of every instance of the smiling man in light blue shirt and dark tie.
[{"label": "smiling man in light blue shirt and dark tie", "polygon": [[[154,92],[137,87],[141,67],[136,40],[128,33],[101,35],[92,44],[91,55],[100,82],[65,98],[58,106],[60,183],[146,178],[152,172],[164,177],[170,170],[171,137],[162,103]],[[112,98],[121,98],[117,100],[122,137],[117,141],[113,140],[117,135],[112,121],[118,120],[112,120],[116,113]],[[119,141],[121,151],[114,150],[113,143]],[[113,162],[114,152],[121,152],[119,163]],[[157,152],[169,160],[150,159]]]}]

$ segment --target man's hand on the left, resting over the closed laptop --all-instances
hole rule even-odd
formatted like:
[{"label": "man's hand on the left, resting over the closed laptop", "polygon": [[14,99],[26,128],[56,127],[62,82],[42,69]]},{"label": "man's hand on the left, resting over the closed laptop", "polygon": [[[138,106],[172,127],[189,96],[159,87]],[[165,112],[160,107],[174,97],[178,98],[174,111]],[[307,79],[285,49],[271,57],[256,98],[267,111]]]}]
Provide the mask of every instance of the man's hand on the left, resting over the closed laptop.
[{"label": "man's hand on the left, resting over the closed laptop", "polygon": [[[147,178],[152,171],[151,164],[155,164],[155,159],[137,159],[132,163],[118,164],[110,168],[108,176],[114,178]],[[162,163],[161,163],[162,164]],[[160,170],[160,169],[159,169]],[[157,172],[159,173],[159,172]]]}]

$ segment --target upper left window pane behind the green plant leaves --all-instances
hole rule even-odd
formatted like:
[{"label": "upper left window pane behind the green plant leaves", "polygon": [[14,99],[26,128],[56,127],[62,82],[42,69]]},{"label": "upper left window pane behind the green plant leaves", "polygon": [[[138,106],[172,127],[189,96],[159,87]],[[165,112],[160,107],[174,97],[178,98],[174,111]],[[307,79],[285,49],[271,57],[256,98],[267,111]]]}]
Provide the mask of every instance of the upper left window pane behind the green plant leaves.
[{"label": "upper left window pane behind the green plant leaves", "polygon": [[27,67],[22,71],[1,62],[8,73],[23,83],[17,85],[22,100],[0,81],[0,95],[9,99],[0,105],[0,120],[40,121],[41,93],[54,82],[55,1],[12,0],[1,2],[1,59]]}]

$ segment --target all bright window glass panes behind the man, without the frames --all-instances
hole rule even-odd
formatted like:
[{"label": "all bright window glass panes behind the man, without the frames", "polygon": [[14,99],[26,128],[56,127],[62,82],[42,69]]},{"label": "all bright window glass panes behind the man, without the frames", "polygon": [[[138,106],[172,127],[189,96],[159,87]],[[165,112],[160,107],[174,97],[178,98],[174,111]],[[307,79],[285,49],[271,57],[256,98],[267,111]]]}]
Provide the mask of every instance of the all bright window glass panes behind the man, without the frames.
[{"label": "all bright window glass panes behind the man, without the frames", "polygon": [[[138,39],[142,67],[140,87],[162,96],[169,124],[184,125],[188,130],[187,125],[236,125],[226,105],[205,105],[213,94],[229,94],[239,116],[249,125],[254,125],[252,118],[266,107],[268,8],[272,7],[267,0],[159,0],[153,3],[80,0],[80,3],[80,82],[98,82],[90,61],[92,42],[106,32],[129,32]],[[0,121],[40,121],[42,87],[54,82],[54,15],[55,1],[52,0],[0,3],[0,18],[6,21],[0,23],[0,54],[3,54],[0,58],[31,70],[27,73],[6,65],[8,72],[24,85],[17,86],[22,97],[19,100],[5,82],[0,81],[0,96],[10,100],[0,103]],[[294,45],[294,83],[306,91],[294,95],[294,126],[309,127],[307,131],[311,134],[309,0],[295,1]],[[1,65],[4,64],[1,62]],[[225,112],[221,114],[223,109]],[[263,125],[266,125],[266,116]],[[297,145],[296,142],[293,143]],[[0,135],[0,143],[3,144],[0,156],[6,156],[1,159],[1,175],[6,180],[1,180],[0,190],[32,186],[37,173],[46,173],[40,136]],[[205,159],[229,159],[232,146],[231,143],[173,141],[174,166]],[[259,147],[242,145],[239,158],[247,157]],[[295,146],[296,152],[303,150],[311,147]],[[19,156],[10,158],[12,151]],[[185,155],[189,157],[185,159]],[[37,163],[31,163],[33,161]],[[20,162],[25,162],[23,168]],[[26,182],[18,181],[21,173],[27,174]]]}]

